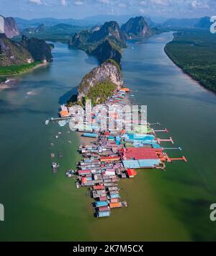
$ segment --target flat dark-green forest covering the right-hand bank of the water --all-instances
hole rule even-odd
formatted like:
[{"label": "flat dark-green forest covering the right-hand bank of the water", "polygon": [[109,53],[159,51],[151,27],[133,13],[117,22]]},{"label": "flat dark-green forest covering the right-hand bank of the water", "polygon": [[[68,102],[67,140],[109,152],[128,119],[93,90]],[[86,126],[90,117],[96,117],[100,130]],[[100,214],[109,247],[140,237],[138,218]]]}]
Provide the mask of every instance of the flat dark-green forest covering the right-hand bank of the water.
[{"label": "flat dark-green forest covering the right-hand bank of the water", "polygon": [[165,51],[186,74],[216,92],[215,48],[216,35],[204,30],[184,30],[174,34]]}]

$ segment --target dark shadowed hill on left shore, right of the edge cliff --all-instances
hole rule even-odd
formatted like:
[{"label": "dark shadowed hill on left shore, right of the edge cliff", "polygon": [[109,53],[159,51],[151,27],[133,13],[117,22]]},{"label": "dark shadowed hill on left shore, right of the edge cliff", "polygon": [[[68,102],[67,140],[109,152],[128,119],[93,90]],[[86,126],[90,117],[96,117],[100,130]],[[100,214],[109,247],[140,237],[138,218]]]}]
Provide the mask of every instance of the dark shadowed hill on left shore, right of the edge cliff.
[{"label": "dark shadowed hill on left shore, right of the edge cliff", "polygon": [[53,61],[50,45],[45,43],[44,40],[35,37],[28,38],[23,35],[21,45],[31,53],[35,61]]}]

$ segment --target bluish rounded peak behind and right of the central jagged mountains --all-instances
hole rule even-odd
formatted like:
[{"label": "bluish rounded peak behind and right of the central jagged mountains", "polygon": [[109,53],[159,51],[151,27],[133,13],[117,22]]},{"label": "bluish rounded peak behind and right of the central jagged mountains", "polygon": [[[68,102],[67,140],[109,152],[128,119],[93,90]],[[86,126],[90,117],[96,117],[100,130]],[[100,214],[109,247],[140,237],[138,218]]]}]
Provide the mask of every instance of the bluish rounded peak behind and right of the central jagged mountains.
[{"label": "bluish rounded peak behind and right of the central jagged mountains", "polygon": [[142,16],[129,19],[128,22],[122,25],[121,30],[126,39],[153,35],[153,31],[150,30]]}]

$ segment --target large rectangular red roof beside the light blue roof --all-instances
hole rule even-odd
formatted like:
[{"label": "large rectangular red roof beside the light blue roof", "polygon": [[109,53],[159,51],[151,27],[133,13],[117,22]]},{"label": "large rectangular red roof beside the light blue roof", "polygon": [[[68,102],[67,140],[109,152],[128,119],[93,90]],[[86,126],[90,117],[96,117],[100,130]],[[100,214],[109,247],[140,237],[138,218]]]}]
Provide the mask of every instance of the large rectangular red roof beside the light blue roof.
[{"label": "large rectangular red roof beside the light blue roof", "polygon": [[123,157],[125,157],[127,160],[158,159],[158,154],[156,152],[161,152],[161,149],[127,148],[123,153]]}]

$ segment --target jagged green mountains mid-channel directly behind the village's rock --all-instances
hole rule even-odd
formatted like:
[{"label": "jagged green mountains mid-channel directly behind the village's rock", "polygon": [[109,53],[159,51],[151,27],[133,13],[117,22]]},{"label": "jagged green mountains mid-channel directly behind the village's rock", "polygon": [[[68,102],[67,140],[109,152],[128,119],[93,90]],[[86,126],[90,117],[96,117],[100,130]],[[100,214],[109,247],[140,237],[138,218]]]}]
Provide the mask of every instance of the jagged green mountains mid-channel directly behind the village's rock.
[{"label": "jagged green mountains mid-channel directly behind the village's rock", "polygon": [[144,17],[130,18],[120,26],[117,22],[105,22],[101,27],[91,30],[82,30],[69,40],[68,45],[85,50],[100,62],[112,58],[120,63],[122,58],[121,48],[126,46],[126,40],[138,37],[148,37],[153,31],[148,27]]}]

